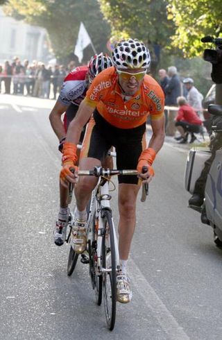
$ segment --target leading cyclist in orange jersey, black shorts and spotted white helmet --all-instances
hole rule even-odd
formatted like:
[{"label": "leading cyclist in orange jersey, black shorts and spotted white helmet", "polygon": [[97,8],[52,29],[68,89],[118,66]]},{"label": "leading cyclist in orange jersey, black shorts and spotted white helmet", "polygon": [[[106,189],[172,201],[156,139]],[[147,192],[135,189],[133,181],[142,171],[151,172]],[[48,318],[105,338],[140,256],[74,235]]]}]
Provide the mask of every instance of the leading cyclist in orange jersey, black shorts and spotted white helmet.
[{"label": "leading cyclist in orange jersey, black shorts and spotted white helmet", "polygon": [[[121,273],[117,275],[117,298],[128,303],[132,296],[126,264],[135,230],[135,203],[142,181],[151,182],[152,163],[164,143],[164,94],[160,85],[146,74],[151,58],[147,47],[138,40],[119,42],[112,52],[114,67],[96,76],[69,125],[63,148],[60,182],[75,185],[76,212],[71,246],[76,253],[86,247],[86,205],[96,178],[78,178],[70,168],[76,164],[76,144],[87,119],[80,169],[100,166],[110,146],[117,152],[118,169],[137,169],[139,176],[119,176],[119,255]],[[92,115],[93,114],[93,115]],[[146,146],[146,119],[150,115],[153,135]],[[148,171],[142,173],[146,166]]]}]

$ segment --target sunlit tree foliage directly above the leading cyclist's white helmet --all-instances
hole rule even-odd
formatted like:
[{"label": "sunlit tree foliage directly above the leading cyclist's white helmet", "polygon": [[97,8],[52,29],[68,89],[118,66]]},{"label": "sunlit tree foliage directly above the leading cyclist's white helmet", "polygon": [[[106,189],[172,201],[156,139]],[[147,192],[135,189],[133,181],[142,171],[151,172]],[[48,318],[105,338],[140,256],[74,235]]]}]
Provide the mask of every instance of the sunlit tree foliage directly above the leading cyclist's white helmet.
[{"label": "sunlit tree foliage directly above the leading cyclist's white helmet", "polygon": [[[98,0],[111,25],[112,41],[136,37],[148,44],[153,64],[170,44],[174,24],[167,19],[167,0]],[[153,73],[153,72],[152,72]]]}]

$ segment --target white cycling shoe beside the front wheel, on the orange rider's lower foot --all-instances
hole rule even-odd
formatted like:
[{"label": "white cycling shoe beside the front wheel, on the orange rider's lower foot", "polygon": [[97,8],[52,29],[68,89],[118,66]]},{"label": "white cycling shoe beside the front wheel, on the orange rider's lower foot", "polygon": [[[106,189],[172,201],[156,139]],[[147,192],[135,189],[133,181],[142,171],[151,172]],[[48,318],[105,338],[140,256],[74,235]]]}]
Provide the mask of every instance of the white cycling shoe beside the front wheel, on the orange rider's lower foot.
[{"label": "white cycling shoe beside the front wheel, on the orange rider's lower foot", "polygon": [[126,274],[117,275],[117,301],[119,303],[129,303],[133,294],[130,289],[130,279]]}]

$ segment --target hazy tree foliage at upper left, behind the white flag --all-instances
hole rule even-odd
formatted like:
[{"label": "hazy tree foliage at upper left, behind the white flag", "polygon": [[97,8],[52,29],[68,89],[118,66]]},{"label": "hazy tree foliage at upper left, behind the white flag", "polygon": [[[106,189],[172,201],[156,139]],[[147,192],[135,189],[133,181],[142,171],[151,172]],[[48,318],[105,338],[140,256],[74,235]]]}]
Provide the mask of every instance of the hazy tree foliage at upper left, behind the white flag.
[{"label": "hazy tree foliage at upper left, behind the white flag", "polygon": [[[110,26],[103,20],[96,0],[8,0],[3,10],[15,19],[46,28],[53,53],[61,59],[74,51],[80,22],[98,53],[105,50],[110,35]],[[92,47],[88,48],[85,61],[93,53]]]}]

